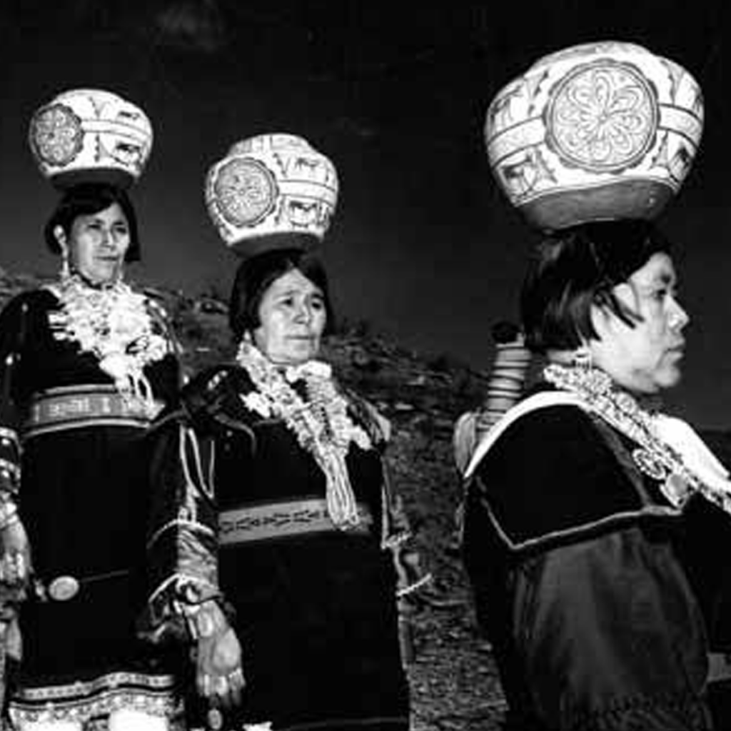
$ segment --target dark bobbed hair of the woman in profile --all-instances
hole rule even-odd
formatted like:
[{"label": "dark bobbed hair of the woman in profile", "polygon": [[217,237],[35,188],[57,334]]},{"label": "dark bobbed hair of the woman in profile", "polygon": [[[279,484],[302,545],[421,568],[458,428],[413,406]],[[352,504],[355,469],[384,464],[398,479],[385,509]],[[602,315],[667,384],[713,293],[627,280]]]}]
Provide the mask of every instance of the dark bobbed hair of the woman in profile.
[{"label": "dark bobbed hair of the woman in profile", "polygon": [[613,295],[670,242],[648,221],[598,221],[554,232],[543,240],[520,294],[526,345],[535,352],[571,350],[598,338],[591,306],[610,309],[631,327],[639,316]]}]

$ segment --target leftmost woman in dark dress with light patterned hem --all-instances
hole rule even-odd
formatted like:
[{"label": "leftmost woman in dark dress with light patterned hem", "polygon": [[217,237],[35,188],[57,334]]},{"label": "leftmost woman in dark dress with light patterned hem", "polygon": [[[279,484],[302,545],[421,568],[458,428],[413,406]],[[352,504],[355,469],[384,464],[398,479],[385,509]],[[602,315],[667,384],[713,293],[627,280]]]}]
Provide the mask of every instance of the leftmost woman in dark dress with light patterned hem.
[{"label": "leftmost woman in dark dress with light patterned hem", "polygon": [[2,499],[22,496],[34,565],[10,717],[20,730],[162,730],[173,679],[135,640],[141,436],[178,388],[175,345],[159,305],[124,281],[140,257],[124,190],[67,189],[45,238],[60,276],[0,315],[2,426],[23,444]]}]

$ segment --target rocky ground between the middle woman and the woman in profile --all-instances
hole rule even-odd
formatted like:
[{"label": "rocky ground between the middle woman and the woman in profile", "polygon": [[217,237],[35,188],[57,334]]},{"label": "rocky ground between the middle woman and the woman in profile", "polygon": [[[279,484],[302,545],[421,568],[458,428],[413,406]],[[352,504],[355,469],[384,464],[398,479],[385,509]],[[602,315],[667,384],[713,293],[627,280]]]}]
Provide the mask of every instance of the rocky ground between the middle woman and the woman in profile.
[{"label": "rocky ground between the middle woman and the woman in profile", "polygon": [[433,575],[433,595],[413,618],[412,731],[498,729],[504,700],[490,646],[475,626],[453,519],[461,487],[452,425],[479,398],[484,378],[447,358],[420,359],[378,338],[344,336],[329,355],[393,424],[393,483]]}]

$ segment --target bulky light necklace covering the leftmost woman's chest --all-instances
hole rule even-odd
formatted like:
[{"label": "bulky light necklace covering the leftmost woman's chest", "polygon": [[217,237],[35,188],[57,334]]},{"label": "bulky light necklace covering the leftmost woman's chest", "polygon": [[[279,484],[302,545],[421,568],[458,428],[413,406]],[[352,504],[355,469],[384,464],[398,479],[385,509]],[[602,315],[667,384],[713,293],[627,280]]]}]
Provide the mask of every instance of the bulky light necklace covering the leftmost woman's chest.
[{"label": "bulky light necklace covering the leftmost woman's chest", "polygon": [[121,280],[92,287],[77,274],[49,284],[48,289],[60,303],[58,311],[48,314],[53,336],[92,353],[125,398],[154,410],[143,370],[167,355],[170,343],[151,317],[145,295]]}]

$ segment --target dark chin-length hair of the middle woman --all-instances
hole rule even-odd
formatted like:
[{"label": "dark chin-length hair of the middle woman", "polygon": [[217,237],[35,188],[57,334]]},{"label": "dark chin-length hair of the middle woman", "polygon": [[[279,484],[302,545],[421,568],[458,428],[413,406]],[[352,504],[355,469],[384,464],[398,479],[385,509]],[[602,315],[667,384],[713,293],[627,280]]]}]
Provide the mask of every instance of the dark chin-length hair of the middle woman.
[{"label": "dark chin-length hair of the middle woman", "polygon": [[324,334],[333,331],[333,308],[322,263],[302,249],[273,249],[244,260],[236,272],[229,300],[229,325],[236,340],[259,327],[259,307],[265,292],[279,277],[295,269],[319,287],[327,316]]}]

